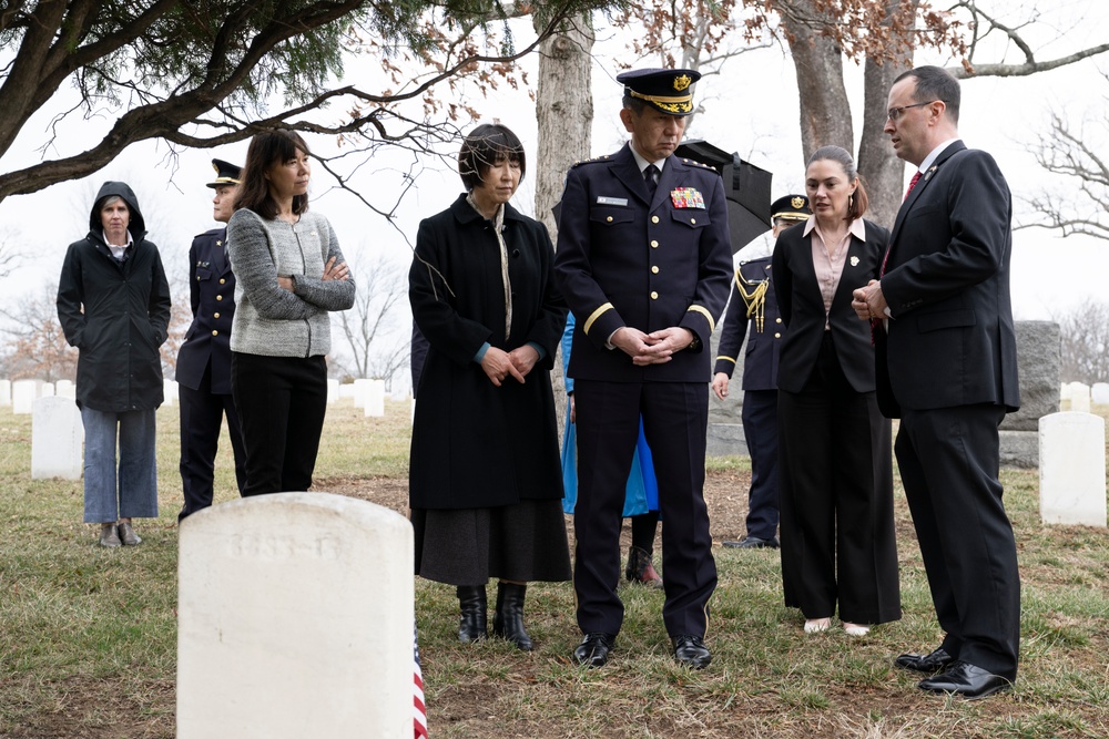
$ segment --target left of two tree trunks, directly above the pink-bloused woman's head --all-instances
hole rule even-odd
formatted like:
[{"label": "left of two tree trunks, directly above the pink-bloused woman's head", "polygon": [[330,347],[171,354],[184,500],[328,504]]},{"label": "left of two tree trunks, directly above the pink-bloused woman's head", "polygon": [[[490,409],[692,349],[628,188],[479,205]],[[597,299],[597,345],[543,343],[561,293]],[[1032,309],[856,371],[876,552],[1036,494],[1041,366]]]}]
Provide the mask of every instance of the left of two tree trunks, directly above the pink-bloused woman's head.
[{"label": "left of two tree trunks, directly above the pink-bloused woman's head", "polygon": [[[817,17],[812,0],[795,3],[805,16]],[[828,23],[832,19],[827,19]],[[854,151],[851,103],[843,82],[843,53],[835,41],[790,16],[782,19],[790,34],[790,51],[801,93],[801,145],[804,158],[821,146],[835,144]]]}]

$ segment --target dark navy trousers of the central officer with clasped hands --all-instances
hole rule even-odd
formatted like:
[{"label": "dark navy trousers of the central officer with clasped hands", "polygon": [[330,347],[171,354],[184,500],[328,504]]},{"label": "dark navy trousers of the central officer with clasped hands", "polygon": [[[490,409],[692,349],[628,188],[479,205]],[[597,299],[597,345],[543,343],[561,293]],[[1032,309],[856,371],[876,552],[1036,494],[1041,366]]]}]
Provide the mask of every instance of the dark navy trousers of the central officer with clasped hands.
[{"label": "dark navy trousers of the central officer with clasped hands", "polygon": [[573,587],[578,626],[586,634],[618,634],[623,622],[623,604],[617,595],[620,525],[642,414],[659,481],[667,594],[662,618],[670,636],[704,636],[709,597],[716,587],[704,504],[708,387],[703,382],[579,379],[574,397],[578,501],[573,511]]}]

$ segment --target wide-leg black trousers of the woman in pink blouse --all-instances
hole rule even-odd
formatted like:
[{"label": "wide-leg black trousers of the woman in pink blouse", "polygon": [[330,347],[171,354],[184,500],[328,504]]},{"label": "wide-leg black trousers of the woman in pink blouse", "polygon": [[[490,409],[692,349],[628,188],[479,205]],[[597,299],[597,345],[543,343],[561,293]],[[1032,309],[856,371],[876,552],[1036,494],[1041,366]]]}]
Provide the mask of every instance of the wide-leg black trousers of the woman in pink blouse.
[{"label": "wide-leg black trousers of the woman in pink blouse", "polygon": [[856,392],[825,336],[800,393],[780,390],[779,493],[785,605],[806,618],[901,618],[889,421]]}]

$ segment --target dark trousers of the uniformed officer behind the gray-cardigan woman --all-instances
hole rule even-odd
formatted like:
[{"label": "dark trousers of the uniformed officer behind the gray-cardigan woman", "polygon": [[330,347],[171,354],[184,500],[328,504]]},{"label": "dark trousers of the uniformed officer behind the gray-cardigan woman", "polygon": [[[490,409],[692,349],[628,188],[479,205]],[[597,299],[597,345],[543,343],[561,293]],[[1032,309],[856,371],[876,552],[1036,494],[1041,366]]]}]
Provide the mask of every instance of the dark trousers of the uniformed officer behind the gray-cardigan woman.
[{"label": "dark trousers of the uniformed officer behind the gray-cardigan woman", "polygon": [[227,435],[235,454],[238,492],[246,486],[246,448],[238,423],[238,412],[231,394],[212,392],[212,366],[204,369],[196,390],[177,386],[181,402],[181,485],[185,504],[177,521],[212,505],[215,455],[220,448],[220,427],[227,417]]}]

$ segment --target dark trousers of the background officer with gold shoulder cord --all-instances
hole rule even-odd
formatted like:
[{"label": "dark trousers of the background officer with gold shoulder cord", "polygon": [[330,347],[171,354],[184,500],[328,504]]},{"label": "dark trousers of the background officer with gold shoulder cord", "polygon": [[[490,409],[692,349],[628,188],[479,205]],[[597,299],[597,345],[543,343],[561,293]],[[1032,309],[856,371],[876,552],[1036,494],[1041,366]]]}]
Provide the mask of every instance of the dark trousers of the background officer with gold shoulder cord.
[{"label": "dark trousers of the background officer with gold shoulder cord", "polygon": [[777,535],[777,390],[743,391],[743,439],[751,455],[747,536]]}]

